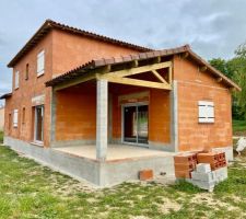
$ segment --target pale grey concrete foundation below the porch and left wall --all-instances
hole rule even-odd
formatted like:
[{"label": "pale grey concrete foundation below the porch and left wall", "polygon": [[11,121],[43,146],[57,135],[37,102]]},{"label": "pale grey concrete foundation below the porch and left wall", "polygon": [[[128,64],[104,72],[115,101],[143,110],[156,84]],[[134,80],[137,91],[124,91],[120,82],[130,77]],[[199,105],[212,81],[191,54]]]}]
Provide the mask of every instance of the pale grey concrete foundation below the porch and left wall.
[{"label": "pale grey concrete foundation below the porch and left wall", "polygon": [[[99,162],[90,158],[90,155],[85,157],[86,154],[82,157],[81,154],[58,150],[58,148],[46,149],[11,137],[4,137],[4,145],[56,171],[78,180],[86,180],[102,187],[138,180],[139,171],[144,169],[153,170],[154,177],[157,177],[161,173],[166,173],[167,176],[174,175],[174,153],[171,152],[141,148],[138,151],[134,147],[125,146],[124,154],[127,155],[126,158],[112,157],[112,159]],[[91,147],[96,150],[95,146]],[[131,155],[133,151],[136,155]],[[110,150],[107,154],[110,158]],[[119,154],[121,153],[119,152]],[[96,157],[96,152],[93,155]]]}]

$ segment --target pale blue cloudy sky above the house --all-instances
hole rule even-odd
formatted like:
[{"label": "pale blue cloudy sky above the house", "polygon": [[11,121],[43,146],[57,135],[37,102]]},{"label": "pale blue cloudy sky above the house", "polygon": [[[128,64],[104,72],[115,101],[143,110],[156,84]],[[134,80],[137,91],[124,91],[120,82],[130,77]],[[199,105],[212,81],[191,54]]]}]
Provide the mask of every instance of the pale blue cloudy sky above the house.
[{"label": "pale blue cloudy sky above the house", "polygon": [[246,41],[245,0],[0,0],[0,94],[7,64],[46,19],[152,48],[190,44],[206,59]]}]

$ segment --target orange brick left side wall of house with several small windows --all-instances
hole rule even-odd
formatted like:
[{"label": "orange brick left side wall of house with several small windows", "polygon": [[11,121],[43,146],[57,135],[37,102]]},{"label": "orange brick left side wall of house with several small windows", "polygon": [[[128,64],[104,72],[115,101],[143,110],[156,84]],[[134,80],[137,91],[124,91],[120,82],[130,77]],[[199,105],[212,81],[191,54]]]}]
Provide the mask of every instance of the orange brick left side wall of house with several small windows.
[{"label": "orange brick left side wall of house with several small windows", "polygon": [[[49,104],[50,104],[50,89],[45,88],[45,81],[51,79],[51,46],[52,34],[49,33],[43,41],[40,41],[26,56],[24,56],[13,68],[13,81],[16,70],[20,72],[19,89],[12,88],[12,97],[7,100],[5,103],[5,134],[14,138],[25,141],[33,141],[33,104],[32,97],[45,94],[45,122],[44,122],[44,143],[49,142]],[[37,77],[37,54],[45,50],[45,73]],[[28,80],[25,80],[26,64],[30,65]],[[13,82],[14,84],[14,82]],[[48,107],[47,107],[48,106]],[[23,122],[23,107],[25,107],[25,120]],[[19,125],[17,128],[13,127],[13,110],[19,110]],[[9,114],[11,114],[11,125],[9,122]]]}]

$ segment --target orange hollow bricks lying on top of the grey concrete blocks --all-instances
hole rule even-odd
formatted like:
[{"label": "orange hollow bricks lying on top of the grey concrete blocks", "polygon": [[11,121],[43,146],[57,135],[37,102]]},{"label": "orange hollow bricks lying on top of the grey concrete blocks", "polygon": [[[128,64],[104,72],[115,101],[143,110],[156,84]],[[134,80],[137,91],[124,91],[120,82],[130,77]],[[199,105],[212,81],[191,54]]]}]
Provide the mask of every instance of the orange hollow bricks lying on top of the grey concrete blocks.
[{"label": "orange hollow bricks lying on top of the grey concrete blocks", "polygon": [[209,163],[212,171],[226,166],[224,152],[198,153],[197,160],[198,160],[198,163]]}]

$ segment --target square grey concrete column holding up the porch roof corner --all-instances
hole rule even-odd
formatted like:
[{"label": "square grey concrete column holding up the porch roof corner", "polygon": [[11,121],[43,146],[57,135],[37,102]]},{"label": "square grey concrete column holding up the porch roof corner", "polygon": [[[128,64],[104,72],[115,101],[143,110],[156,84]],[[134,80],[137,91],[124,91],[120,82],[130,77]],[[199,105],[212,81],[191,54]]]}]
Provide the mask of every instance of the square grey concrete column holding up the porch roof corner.
[{"label": "square grey concrete column holding up the porch roof corner", "polygon": [[96,159],[105,161],[107,157],[107,80],[96,81]]}]

